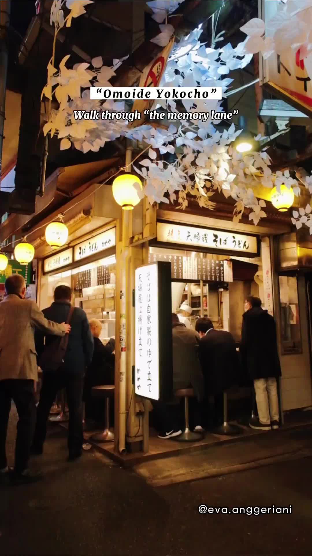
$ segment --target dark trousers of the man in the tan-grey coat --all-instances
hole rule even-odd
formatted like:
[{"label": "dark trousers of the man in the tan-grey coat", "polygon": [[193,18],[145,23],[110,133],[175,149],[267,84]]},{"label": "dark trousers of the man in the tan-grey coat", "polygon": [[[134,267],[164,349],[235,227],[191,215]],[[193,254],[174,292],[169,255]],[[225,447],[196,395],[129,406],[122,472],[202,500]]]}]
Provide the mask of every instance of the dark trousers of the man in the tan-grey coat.
[{"label": "dark trousers of the man in the tan-grey coat", "polygon": [[18,413],[14,469],[22,473],[28,466],[36,415],[33,380],[0,380],[0,469],[7,466],[6,439],[12,399]]}]

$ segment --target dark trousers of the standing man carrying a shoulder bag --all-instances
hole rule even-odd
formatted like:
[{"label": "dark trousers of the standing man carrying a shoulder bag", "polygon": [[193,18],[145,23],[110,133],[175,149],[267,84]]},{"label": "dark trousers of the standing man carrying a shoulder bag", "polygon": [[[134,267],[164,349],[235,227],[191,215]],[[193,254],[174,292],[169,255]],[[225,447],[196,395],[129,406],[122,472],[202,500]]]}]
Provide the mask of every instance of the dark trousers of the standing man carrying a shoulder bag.
[{"label": "dark trousers of the standing man carrying a shoulder bag", "polygon": [[81,450],[83,444],[83,376],[68,373],[66,369],[62,368],[43,373],[33,445],[42,448],[47,435],[47,421],[51,407],[58,391],[63,388],[66,389],[69,409],[68,450],[70,453],[74,453]]}]

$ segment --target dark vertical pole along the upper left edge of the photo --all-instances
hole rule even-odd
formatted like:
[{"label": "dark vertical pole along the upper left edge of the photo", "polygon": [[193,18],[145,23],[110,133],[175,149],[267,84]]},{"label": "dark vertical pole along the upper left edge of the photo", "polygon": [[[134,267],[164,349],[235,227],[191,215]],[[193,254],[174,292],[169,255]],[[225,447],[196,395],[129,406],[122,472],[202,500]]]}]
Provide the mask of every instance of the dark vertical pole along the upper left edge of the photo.
[{"label": "dark vertical pole along the upper left edge of the photo", "polygon": [[7,28],[10,21],[11,2],[2,0],[0,6],[0,181],[2,171],[2,150],[3,150],[3,131],[4,113],[6,110],[6,88],[8,72],[8,35]]}]

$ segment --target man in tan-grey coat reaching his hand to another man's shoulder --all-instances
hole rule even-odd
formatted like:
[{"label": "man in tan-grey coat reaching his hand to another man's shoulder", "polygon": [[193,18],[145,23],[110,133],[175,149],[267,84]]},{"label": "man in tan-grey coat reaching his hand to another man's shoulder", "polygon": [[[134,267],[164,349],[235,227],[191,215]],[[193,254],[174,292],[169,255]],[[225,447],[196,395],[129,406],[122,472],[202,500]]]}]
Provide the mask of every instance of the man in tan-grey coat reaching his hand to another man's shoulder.
[{"label": "man in tan-grey coat reaching his hand to another man's shoulder", "polygon": [[9,471],[6,437],[13,399],[19,420],[12,478],[31,482],[39,478],[28,469],[36,415],[34,381],[38,380],[34,329],[64,336],[71,326],[47,320],[34,301],[24,300],[26,284],[23,276],[9,276],[4,287],[6,297],[0,303],[0,478]]}]

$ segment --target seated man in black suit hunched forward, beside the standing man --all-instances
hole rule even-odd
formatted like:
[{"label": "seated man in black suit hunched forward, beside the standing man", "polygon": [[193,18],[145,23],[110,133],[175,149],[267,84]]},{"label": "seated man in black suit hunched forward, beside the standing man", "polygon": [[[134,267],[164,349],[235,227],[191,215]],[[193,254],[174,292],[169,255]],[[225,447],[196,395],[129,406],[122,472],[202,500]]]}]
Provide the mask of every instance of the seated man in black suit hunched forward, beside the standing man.
[{"label": "seated man in black suit hunched forward, beside the standing man", "polygon": [[205,400],[213,396],[213,425],[223,420],[223,392],[238,383],[239,361],[235,341],[225,330],[215,330],[212,321],[207,318],[197,319],[195,324],[199,340],[199,360],[202,365],[205,382]]}]

